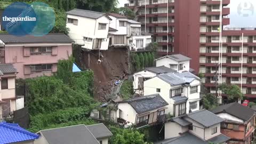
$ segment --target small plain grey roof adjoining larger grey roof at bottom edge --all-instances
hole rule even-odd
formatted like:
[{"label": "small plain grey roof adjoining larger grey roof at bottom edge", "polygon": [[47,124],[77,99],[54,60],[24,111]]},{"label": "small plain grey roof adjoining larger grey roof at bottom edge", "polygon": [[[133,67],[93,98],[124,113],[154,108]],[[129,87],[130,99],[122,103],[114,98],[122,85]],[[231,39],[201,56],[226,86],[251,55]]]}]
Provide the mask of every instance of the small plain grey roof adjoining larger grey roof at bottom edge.
[{"label": "small plain grey roof adjoining larger grey roof at bottom edge", "polygon": [[113,134],[107,129],[107,127],[100,123],[94,125],[88,125],[87,128],[90,130],[92,135],[99,139],[99,138],[107,138],[111,137]]}]

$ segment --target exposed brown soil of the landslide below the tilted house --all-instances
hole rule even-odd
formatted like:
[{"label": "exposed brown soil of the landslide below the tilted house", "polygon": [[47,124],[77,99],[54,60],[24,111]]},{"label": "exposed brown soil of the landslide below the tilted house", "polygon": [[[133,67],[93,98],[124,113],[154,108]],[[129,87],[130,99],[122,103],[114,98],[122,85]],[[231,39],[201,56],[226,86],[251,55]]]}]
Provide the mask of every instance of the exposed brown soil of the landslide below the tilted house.
[{"label": "exposed brown soil of the landslide below the tilted house", "polygon": [[[83,64],[94,71],[94,98],[106,101],[115,87],[115,81],[123,79],[129,73],[129,56],[126,48],[109,48],[100,51],[103,58],[101,64],[97,64],[99,51],[83,53]],[[90,54],[90,66],[88,57]]]}]

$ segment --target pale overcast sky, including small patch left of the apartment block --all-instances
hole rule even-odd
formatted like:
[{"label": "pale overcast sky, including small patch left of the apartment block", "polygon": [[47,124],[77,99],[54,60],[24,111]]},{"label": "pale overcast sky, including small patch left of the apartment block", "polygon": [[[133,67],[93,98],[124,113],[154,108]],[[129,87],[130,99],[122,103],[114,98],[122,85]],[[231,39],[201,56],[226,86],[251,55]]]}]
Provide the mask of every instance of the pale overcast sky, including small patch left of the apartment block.
[{"label": "pale overcast sky, including small patch left of the apartment block", "polygon": [[[119,7],[123,7],[127,0],[118,0]],[[228,27],[256,27],[256,1],[231,0],[230,25]]]}]

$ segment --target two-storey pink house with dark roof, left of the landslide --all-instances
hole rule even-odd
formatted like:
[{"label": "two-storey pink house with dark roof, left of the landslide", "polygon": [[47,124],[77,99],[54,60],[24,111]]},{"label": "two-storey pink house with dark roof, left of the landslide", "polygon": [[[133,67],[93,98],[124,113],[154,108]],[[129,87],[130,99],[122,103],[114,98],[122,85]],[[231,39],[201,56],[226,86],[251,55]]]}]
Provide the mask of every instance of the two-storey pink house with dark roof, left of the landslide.
[{"label": "two-storey pink house with dark roof, left of the landslide", "polygon": [[50,76],[57,71],[58,60],[72,54],[73,41],[64,34],[41,37],[0,34],[0,63],[12,63],[17,78]]}]

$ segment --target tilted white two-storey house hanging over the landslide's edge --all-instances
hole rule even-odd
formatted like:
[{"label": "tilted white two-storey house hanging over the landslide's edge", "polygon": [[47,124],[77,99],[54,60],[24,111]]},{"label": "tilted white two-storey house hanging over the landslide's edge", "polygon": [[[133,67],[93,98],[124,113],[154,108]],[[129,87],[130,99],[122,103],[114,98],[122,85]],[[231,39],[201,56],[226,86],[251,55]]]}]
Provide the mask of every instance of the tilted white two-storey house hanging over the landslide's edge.
[{"label": "tilted white two-storey house hanging over the landslide's edge", "polygon": [[105,13],[79,9],[68,11],[68,36],[85,49],[108,50],[110,21]]}]

